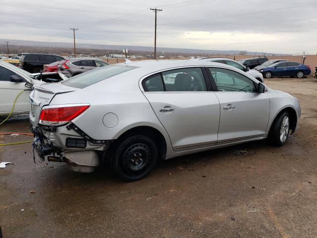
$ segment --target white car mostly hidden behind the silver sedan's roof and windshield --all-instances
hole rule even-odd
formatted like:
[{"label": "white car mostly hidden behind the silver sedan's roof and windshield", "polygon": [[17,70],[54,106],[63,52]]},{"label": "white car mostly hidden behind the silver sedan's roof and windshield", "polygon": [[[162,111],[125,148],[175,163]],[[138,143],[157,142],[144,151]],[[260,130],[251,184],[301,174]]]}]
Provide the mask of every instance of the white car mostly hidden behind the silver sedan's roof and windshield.
[{"label": "white car mostly hidden behind the silver sedan's roof and windshield", "polygon": [[239,63],[238,61],[231,60],[229,58],[201,58],[201,59],[195,59],[195,60],[212,61],[212,62],[217,62],[217,63],[228,64],[228,65],[231,65],[231,66],[236,67],[238,69],[241,69],[242,71],[251,75],[255,79],[264,83],[264,78],[263,78],[262,73],[260,73],[258,70],[250,69],[249,67],[244,66],[243,64]]}]

